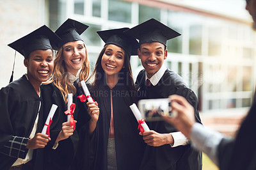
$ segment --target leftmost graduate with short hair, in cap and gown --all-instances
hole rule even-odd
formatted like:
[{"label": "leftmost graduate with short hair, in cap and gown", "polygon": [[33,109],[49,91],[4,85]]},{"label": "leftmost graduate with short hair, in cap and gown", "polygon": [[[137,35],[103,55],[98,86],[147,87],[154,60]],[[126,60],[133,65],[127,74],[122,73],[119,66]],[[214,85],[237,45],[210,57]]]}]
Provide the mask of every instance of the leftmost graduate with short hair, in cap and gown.
[{"label": "leftmost graduate with short hair, in cap and gown", "polygon": [[60,41],[47,26],[10,43],[24,56],[27,73],[0,90],[0,169],[44,169],[43,150],[51,139],[44,125],[40,85],[53,70],[52,44]]}]

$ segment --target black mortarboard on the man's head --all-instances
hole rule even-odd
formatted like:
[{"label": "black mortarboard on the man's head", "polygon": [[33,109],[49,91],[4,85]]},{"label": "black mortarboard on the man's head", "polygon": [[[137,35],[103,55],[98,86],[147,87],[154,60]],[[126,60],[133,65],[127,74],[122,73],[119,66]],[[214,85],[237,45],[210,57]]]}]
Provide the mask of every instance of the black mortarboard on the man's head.
[{"label": "black mortarboard on the man's head", "polygon": [[180,33],[177,33],[156,19],[147,20],[125,31],[125,33],[140,40],[140,45],[142,43],[159,42],[166,46],[167,40],[180,36]]}]

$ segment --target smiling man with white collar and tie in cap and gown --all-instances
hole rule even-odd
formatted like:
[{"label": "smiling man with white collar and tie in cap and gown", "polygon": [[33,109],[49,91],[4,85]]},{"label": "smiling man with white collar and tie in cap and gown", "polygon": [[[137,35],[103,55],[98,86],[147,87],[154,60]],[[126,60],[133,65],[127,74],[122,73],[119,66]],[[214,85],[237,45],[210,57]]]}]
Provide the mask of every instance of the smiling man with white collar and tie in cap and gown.
[{"label": "smiling man with white collar and tie in cap and gown", "polygon": [[[136,84],[140,87],[138,94],[146,95],[138,99],[182,95],[195,108],[195,118],[200,123],[195,93],[177,73],[163,65],[168,54],[167,40],[180,34],[155,19],[147,20],[125,33],[140,40],[138,56],[145,69],[139,73]],[[141,169],[202,169],[202,154],[191,148],[188,139],[181,132],[164,121],[147,123],[150,131],[141,134],[147,143]]]}]

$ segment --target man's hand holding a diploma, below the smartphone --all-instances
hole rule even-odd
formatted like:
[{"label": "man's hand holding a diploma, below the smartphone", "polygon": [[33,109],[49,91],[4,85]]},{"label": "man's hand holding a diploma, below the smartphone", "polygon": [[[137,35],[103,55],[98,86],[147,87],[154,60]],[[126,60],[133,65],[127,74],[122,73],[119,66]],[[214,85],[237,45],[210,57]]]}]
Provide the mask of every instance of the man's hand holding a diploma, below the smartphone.
[{"label": "man's hand holding a diploma, below the smartphone", "polygon": [[173,137],[171,134],[159,134],[154,130],[148,132],[140,132],[143,135],[143,140],[149,146],[162,146],[164,144],[173,144]]}]

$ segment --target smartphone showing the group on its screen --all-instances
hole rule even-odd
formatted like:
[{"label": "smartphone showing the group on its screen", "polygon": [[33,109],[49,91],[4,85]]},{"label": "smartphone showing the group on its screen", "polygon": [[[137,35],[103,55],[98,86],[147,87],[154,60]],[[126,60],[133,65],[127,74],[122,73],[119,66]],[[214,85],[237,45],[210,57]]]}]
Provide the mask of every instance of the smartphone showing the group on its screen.
[{"label": "smartphone showing the group on its screen", "polygon": [[170,98],[142,99],[138,107],[145,121],[162,121],[161,115],[172,116]]}]

